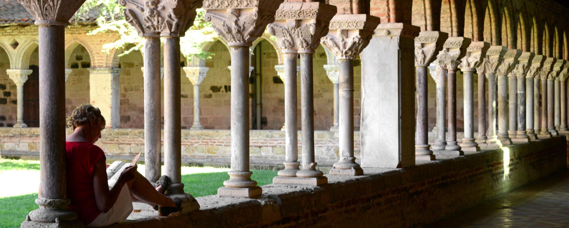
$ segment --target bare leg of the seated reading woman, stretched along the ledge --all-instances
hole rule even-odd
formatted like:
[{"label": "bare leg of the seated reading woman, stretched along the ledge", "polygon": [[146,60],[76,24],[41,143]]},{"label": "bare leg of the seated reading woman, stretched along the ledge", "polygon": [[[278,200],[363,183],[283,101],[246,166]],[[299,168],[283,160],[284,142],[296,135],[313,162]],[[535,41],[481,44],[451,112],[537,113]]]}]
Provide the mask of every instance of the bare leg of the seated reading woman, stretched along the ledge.
[{"label": "bare leg of the seated reading woman, stretched along the ledge", "polygon": [[176,206],[171,198],[158,192],[139,172],[137,172],[133,180],[127,182],[127,185],[129,186],[130,193],[142,202],[146,202],[150,205],[158,204],[158,206]]}]

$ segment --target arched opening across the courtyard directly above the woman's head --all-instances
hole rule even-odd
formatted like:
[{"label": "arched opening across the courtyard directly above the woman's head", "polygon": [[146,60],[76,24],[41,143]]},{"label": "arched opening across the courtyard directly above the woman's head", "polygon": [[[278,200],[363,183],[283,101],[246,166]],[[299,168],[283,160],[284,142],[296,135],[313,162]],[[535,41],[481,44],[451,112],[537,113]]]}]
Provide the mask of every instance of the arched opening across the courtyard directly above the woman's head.
[{"label": "arched opening across the courtyard directly above the woman's head", "polygon": [[67,68],[71,69],[65,81],[65,115],[71,115],[75,108],[83,103],[89,103],[89,68],[91,57],[81,44],[72,44],[68,56]]}]

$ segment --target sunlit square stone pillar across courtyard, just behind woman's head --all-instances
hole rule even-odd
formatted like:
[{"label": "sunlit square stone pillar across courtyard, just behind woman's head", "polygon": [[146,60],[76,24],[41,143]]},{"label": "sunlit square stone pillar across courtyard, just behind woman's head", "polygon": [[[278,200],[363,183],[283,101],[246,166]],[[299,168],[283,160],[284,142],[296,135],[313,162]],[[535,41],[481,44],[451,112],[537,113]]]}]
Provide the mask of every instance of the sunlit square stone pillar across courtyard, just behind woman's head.
[{"label": "sunlit square stone pillar across courtyard, just behind woman's head", "polygon": [[121,68],[89,68],[89,102],[101,110],[106,127],[121,126]]}]

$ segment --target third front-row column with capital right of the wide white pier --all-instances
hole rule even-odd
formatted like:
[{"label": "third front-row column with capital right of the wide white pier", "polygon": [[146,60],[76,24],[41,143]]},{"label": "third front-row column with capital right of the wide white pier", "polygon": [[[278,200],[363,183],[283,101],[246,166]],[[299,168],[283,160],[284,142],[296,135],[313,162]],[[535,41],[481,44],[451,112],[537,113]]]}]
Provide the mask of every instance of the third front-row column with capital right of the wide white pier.
[{"label": "third front-row column with capital right of the wide white pier", "polygon": [[[466,55],[460,60],[459,68],[464,73],[464,138],[460,147],[463,151],[480,151],[474,138],[474,71],[482,65],[486,51],[490,48],[487,42],[472,42],[466,49]],[[483,80],[484,90],[484,80]],[[484,96],[484,93],[482,94]],[[480,98],[481,96],[479,96]],[[480,102],[480,100],[479,100]],[[484,106],[483,106],[484,109]],[[483,126],[484,128],[484,126]]]}]

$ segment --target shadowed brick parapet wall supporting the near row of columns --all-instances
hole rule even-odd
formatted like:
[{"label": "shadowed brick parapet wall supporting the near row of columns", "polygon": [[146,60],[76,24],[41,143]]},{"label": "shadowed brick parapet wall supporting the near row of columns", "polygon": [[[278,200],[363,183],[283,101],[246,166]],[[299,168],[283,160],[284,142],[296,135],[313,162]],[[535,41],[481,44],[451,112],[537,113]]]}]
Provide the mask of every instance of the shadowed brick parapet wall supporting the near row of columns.
[{"label": "shadowed brick parapet wall supporting the near row of columns", "polygon": [[191,214],[113,227],[416,227],[566,169],[566,140],[554,137],[403,169],[364,168],[321,186],[262,186],[260,199],[198,197]]}]

